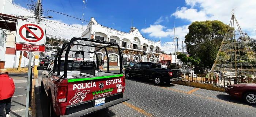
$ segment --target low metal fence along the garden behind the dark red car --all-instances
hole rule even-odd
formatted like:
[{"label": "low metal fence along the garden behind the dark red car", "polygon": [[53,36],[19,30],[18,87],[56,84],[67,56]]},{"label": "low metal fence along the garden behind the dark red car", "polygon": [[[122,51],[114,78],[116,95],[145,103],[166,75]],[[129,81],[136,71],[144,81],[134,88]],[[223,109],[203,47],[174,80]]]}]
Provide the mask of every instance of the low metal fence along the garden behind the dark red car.
[{"label": "low metal fence along the garden behind the dark red car", "polygon": [[181,81],[208,83],[213,86],[226,87],[232,84],[255,83],[256,78],[244,76],[233,77],[225,74],[216,77],[214,76],[214,73],[182,73]]}]

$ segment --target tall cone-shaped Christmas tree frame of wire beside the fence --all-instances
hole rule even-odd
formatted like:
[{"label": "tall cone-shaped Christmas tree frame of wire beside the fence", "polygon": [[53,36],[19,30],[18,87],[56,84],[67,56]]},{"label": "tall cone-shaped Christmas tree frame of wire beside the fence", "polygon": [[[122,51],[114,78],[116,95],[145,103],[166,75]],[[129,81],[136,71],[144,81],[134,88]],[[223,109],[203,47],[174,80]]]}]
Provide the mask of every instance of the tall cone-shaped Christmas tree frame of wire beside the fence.
[{"label": "tall cone-shaped Christmas tree frame of wire beside the fence", "polygon": [[255,77],[255,53],[249,42],[250,38],[242,32],[233,13],[211,71],[229,72],[233,77]]}]

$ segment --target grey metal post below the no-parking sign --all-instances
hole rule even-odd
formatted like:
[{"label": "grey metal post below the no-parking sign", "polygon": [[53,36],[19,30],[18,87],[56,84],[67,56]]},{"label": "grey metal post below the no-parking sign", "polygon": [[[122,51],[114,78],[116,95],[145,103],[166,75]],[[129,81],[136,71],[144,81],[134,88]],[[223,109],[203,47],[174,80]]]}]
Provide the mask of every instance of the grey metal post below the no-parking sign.
[{"label": "grey metal post below the no-parking sign", "polygon": [[30,92],[30,79],[31,79],[31,59],[32,59],[32,52],[29,52],[29,71],[27,74],[27,98],[26,98],[26,113],[25,116],[29,117],[29,92]]}]

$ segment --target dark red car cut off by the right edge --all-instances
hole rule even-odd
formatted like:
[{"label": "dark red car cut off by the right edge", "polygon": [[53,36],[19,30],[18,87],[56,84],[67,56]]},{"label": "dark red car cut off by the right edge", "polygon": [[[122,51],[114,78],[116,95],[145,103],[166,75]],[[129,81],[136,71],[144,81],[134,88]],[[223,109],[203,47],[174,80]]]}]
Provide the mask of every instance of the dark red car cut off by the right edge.
[{"label": "dark red car cut off by the right edge", "polygon": [[242,98],[248,104],[256,104],[256,84],[242,83],[233,84],[225,88],[225,92],[231,96]]}]

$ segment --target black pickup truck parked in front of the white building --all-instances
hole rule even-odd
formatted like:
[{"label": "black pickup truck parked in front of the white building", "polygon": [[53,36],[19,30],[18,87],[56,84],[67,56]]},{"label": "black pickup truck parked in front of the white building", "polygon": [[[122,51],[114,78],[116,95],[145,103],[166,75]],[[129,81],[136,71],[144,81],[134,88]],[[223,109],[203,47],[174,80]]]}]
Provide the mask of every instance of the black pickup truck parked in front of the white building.
[{"label": "black pickup truck parked in front of the white building", "polygon": [[125,77],[143,77],[154,80],[159,85],[162,82],[170,83],[181,79],[180,69],[163,69],[160,63],[139,62],[132,67],[125,68]]}]

